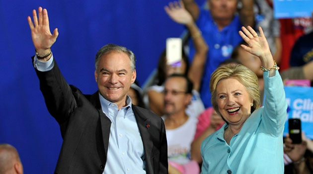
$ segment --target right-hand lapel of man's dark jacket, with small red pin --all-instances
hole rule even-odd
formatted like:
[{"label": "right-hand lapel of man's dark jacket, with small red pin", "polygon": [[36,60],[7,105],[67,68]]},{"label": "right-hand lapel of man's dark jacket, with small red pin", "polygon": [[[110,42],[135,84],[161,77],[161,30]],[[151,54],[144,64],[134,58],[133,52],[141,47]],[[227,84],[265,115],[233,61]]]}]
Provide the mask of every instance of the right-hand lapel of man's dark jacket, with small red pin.
[{"label": "right-hand lapel of man's dark jacket, with small red pin", "polygon": [[150,135],[150,119],[147,115],[143,114],[137,106],[132,105],[132,109],[144,144],[146,172],[147,174],[151,174],[153,173],[153,164],[150,159],[152,157],[153,140]]}]

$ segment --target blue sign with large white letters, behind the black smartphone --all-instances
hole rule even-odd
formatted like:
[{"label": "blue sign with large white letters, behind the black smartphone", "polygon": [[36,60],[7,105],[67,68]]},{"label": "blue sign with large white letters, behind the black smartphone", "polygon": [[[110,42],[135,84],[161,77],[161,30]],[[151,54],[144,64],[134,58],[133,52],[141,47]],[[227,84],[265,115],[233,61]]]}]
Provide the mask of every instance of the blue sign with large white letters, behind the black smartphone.
[{"label": "blue sign with large white letters, behind the black smartphone", "polygon": [[302,131],[313,139],[313,87],[284,87],[288,104],[284,136],[288,133],[288,118],[300,118]]}]

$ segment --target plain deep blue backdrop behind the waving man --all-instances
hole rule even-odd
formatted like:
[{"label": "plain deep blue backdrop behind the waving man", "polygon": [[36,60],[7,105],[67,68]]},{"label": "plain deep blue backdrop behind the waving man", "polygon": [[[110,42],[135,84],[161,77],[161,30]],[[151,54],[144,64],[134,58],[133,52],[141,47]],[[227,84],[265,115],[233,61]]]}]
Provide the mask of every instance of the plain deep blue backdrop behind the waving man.
[{"label": "plain deep blue backdrop behind the waving man", "polygon": [[137,80],[145,82],[157,66],[166,38],[179,37],[184,30],[164,12],[168,2],[0,0],[0,143],[17,148],[25,174],[53,173],[62,144],[31,63],[34,47],[27,16],[32,16],[32,9],[47,8],[50,29],[59,29],[52,51],[68,83],[93,93],[95,53],[107,43],[135,53]]}]

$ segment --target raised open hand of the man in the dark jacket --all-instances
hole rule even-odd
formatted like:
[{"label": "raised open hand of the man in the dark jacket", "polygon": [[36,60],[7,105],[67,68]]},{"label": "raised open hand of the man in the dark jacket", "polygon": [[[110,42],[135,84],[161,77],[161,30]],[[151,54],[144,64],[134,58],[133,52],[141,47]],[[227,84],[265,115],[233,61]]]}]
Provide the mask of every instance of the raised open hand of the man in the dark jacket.
[{"label": "raised open hand of the man in the dark jacket", "polygon": [[58,28],[54,29],[53,34],[49,28],[49,18],[47,9],[38,8],[38,18],[36,10],[33,10],[33,20],[31,17],[27,17],[29,28],[31,31],[31,37],[36,51],[39,55],[46,55],[50,52],[51,46],[57,40],[59,35]]}]

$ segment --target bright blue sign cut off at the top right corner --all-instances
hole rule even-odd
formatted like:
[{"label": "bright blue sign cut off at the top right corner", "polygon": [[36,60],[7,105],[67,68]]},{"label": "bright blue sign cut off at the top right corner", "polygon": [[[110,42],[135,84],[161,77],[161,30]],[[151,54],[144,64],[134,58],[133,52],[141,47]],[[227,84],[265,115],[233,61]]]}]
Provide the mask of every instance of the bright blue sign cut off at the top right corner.
[{"label": "bright blue sign cut off at the top right corner", "polygon": [[311,17],[313,0],[274,0],[275,18]]}]

